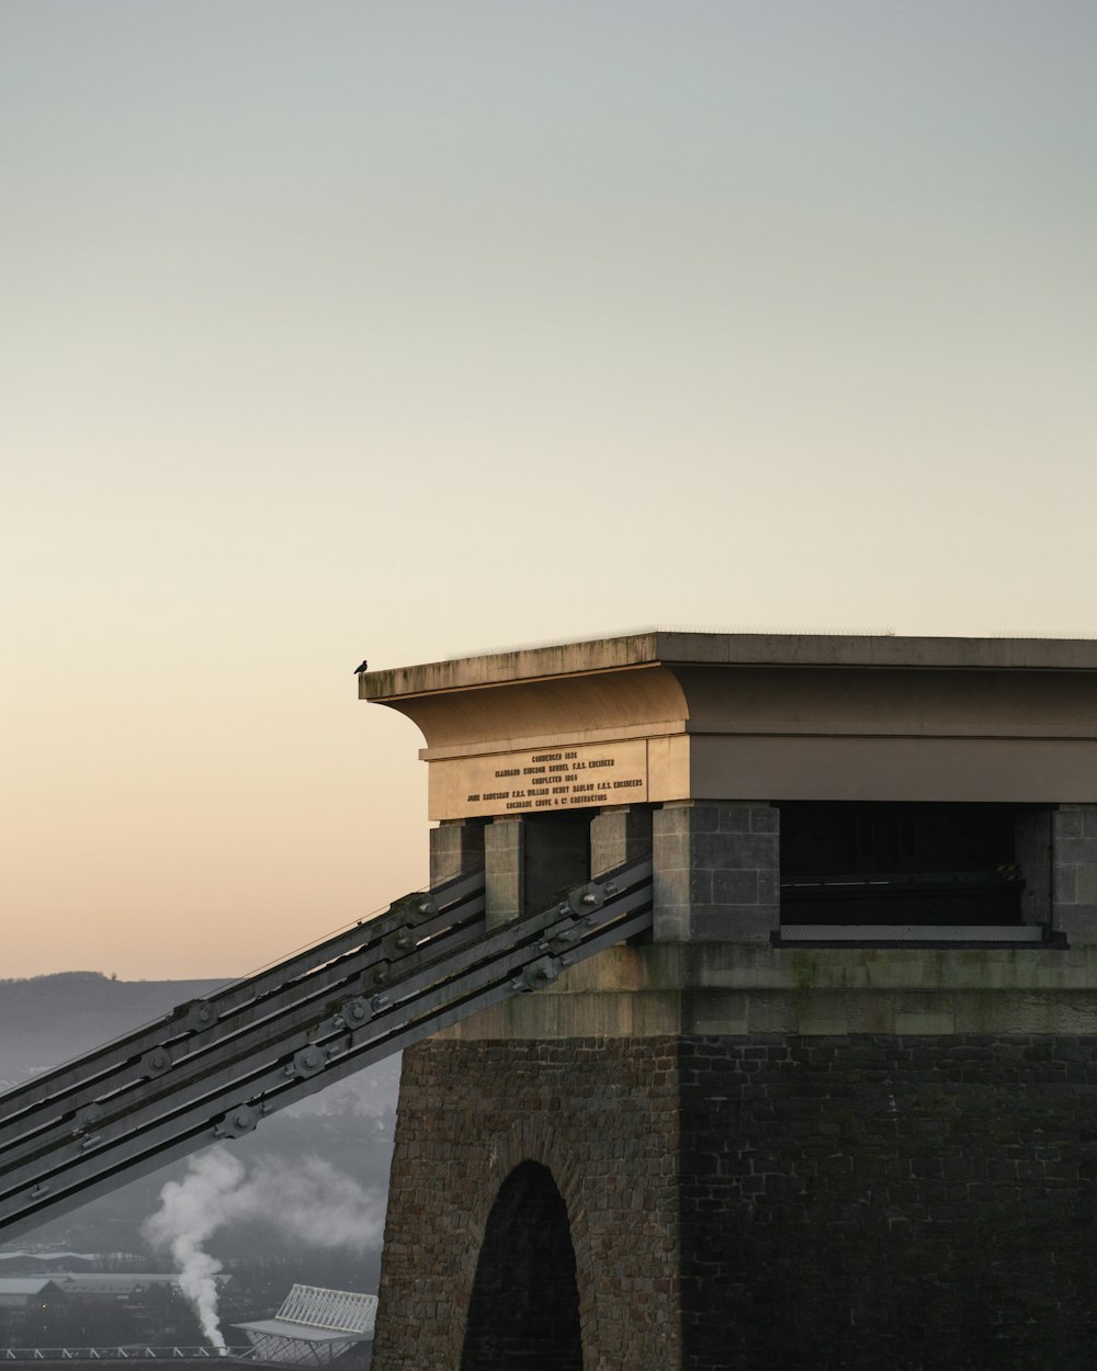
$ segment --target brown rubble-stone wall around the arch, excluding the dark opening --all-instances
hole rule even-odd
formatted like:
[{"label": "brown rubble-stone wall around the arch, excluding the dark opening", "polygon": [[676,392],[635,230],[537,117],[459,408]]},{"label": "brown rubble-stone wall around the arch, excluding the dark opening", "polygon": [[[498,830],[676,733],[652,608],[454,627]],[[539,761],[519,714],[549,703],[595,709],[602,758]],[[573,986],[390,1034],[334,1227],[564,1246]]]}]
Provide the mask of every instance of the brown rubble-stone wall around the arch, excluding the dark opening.
[{"label": "brown rubble-stone wall around the arch, excluding the dark opening", "polygon": [[403,1057],[373,1371],[457,1371],[503,1180],[553,1174],[584,1371],[680,1371],[677,1039],[428,1042]]}]

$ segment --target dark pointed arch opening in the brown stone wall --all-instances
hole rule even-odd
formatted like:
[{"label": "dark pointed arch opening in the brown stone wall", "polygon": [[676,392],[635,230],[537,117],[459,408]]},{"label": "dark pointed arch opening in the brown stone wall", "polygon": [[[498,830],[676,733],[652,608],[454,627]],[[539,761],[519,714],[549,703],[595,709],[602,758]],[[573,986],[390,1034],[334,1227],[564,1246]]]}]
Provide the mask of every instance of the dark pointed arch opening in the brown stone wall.
[{"label": "dark pointed arch opening in the brown stone wall", "polygon": [[461,1371],[583,1371],[568,1208],[547,1167],[499,1186],[476,1265]]}]

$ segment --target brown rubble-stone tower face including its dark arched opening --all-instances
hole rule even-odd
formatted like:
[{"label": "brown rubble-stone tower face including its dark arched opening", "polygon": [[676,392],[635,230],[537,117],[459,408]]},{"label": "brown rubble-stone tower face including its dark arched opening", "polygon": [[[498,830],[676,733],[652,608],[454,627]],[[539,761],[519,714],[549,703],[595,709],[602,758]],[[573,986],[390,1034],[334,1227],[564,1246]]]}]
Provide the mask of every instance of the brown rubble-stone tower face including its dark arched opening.
[{"label": "brown rubble-stone tower face including its dark arched opening", "polygon": [[676,1058],[665,1038],[405,1053],[376,1371],[680,1371]]}]

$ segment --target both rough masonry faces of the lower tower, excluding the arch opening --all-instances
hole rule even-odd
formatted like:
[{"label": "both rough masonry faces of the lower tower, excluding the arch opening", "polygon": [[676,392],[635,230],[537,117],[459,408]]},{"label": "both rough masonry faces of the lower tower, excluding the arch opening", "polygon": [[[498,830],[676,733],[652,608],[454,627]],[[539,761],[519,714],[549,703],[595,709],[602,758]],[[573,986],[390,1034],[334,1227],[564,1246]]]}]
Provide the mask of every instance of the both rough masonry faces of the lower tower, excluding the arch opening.
[{"label": "both rough masonry faces of the lower tower, excluding the arch opening", "polygon": [[524,1161],[566,1205],[587,1371],[1092,1366],[1094,1036],[435,1042],[405,1061],[376,1371],[458,1371]]}]

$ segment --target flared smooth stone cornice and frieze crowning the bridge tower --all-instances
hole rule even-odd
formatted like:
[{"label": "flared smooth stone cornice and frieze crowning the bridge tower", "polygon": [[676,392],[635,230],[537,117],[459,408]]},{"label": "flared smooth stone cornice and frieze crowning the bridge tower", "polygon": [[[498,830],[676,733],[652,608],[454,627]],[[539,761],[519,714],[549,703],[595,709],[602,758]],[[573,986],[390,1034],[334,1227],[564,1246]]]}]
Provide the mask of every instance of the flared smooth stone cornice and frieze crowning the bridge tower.
[{"label": "flared smooth stone cornice and frieze crowning the bridge tower", "polygon": [[609,750],[653,803],[1094,799],[1092,642],[650,632],[358,684],[422,729],[435,818],[513,813],[509,765],[546,746]]}]

